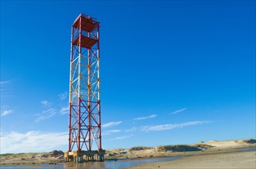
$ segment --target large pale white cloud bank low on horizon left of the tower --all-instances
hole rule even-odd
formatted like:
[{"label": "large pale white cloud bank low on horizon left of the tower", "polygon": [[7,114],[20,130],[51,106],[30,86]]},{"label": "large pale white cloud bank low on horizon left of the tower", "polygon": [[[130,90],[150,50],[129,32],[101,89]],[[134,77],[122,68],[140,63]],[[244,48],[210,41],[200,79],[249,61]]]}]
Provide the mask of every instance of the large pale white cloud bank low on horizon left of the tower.
[{"label": "large pale white cloud bank low on horizon left of the tower", "polygon": [[59,150],[68,144],[68,132],[29,131],[19,133],[11,131],[1,134],[0,154],[47,152]]}]

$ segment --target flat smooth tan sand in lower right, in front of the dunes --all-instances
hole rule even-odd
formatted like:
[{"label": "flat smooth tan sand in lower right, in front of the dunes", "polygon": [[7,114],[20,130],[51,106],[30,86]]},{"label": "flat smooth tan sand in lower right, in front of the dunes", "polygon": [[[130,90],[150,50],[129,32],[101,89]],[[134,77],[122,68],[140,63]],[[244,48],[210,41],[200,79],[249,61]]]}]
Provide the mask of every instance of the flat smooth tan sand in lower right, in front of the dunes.
[{"label": "flat smooth tan sand in lower right, in front of the dunes", "polygon": [[177,161],[143,164],[135,168],[256,168],[255,151],[216,151],[190,154]]}]

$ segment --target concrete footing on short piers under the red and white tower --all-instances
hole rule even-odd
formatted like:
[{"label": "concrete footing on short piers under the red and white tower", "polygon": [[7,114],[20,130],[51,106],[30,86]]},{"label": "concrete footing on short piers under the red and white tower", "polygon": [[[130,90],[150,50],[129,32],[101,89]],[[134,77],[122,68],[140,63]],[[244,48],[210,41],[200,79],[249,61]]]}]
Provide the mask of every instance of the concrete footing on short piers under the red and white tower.
[{"label": "concrete footing on short piers under the red and white tower", "polygon": [[104,150],[102,151],[69,151],[64,154],[65,162],[83,163],[84,161],[104,161]]}]

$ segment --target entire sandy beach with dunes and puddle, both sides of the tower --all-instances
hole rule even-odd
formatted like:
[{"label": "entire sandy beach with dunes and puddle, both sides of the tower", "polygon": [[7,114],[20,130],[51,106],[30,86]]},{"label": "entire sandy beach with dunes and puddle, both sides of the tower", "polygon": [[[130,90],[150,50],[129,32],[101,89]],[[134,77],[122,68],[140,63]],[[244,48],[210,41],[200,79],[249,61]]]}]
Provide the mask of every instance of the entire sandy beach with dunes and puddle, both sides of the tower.
[{"label": "entire sandy beach with dunes and puddle, both sides of the tower", "polygon": [[[131,147],[106,151],[103,163],[63,163],[62,151],[0,154],[0,166],[19,168],[256,168],[256,139],[200,141],[157,147]],[[75,166],[74,166],[75,165]],[[71,167],[70,167],[71,166]]]}]

